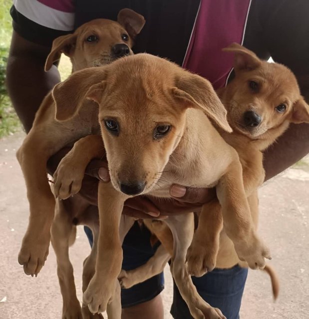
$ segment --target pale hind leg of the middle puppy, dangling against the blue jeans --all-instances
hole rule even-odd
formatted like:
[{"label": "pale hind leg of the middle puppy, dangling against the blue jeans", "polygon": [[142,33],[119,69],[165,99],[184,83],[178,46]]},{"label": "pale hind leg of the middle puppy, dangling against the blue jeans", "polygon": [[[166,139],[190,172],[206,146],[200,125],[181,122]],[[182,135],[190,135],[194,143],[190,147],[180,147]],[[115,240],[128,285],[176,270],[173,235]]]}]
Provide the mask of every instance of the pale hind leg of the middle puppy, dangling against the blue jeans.
[{"label": "pale hind leg of the middle puppy, dangling against the blue jeans", "polygon": [[171,272],[192,317],[194,319],[226,319],[219,309],[211,307],[198,294],[185,264],[187,249],[194,232],[193,213],[169,216],[165,222],[171,228],[174,237]]}]

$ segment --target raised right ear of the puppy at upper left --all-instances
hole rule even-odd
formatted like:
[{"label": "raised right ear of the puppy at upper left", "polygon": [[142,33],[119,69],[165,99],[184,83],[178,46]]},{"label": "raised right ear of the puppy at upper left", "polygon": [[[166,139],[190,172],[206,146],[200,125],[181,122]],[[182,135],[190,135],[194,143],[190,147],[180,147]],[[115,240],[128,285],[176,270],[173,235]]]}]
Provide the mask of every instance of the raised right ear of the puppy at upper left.
[{"label": "raised right ear of the puppy at upper left", "polygon": [[146,22],[141,14],[128,8],[119,11],[117,21],[128,31],[132,39],[135,39]]}]

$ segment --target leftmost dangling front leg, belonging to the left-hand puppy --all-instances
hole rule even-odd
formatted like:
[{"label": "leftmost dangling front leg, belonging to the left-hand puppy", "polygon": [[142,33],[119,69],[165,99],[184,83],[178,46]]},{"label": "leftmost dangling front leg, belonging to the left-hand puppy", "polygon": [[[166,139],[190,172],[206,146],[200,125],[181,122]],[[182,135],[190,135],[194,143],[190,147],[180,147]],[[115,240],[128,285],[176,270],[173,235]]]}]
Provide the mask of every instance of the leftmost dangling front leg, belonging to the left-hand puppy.
[{"label": "leftmost dangling front leg, belonging to the left-hand puppy", "polygon": [[41,139],[35,139],[30,132],[16,154],[26,182],[30,210],[18,262],[23,265],[25,274],[31,276],[39,273],[47,258],[55,209],[55,198],[46,176],[50,154]]}]

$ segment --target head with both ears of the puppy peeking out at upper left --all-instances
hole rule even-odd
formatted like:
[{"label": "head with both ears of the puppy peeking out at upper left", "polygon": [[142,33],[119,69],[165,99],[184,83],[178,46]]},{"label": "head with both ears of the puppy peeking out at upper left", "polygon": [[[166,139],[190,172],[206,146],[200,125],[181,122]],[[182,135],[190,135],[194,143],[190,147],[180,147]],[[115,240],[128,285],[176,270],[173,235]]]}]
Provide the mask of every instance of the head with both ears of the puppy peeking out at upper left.
[{"label": "head with both ears of the puppy peeking out at upper left", "polygon": [[142,15],[122,9],[118,20],[95,19],[81,25],[73,34],[53,41],[45,70],[64,53],[72,62],[73,71],[108,64],[117,58],[132,55],[134,38],[145,24]]}]

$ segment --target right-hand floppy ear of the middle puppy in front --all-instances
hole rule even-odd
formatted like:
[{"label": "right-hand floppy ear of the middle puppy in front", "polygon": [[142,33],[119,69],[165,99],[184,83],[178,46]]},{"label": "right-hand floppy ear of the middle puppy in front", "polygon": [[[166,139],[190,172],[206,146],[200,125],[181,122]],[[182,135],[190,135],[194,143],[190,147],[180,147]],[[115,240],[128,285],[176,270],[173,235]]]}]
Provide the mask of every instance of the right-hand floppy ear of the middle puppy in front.
[{"label": "right-hand floppy ear of the middle puppy in front", "polygon": [[183,71],[172,88],[173,96],[186,108],[201,108],[207,116],[227,132],[232,132],[227,111],[210,82],[199,75]]}]

